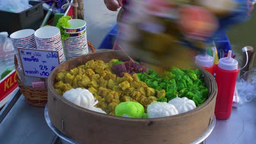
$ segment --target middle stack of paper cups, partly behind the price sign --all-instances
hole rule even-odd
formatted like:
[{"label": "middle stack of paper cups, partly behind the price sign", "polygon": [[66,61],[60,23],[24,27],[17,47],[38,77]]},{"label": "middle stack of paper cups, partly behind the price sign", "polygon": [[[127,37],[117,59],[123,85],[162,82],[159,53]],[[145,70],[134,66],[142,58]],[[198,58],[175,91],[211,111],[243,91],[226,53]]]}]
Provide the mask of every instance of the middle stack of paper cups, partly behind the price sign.
[{"label": "middle stack of paper cups, partly behind the price sign", "polygon": [[37,29],[34,35],[36,37],[37,49],[58,51],[60,62],[62,63],[66,60],[59,28],[53,26],[42,27]]}]

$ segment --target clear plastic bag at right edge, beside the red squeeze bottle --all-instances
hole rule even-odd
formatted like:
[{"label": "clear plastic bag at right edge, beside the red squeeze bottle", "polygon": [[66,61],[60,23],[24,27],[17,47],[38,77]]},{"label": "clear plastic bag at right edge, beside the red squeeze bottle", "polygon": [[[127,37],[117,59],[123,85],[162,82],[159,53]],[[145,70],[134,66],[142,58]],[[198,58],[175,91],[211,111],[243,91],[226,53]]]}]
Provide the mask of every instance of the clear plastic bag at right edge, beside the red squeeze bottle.
[{"label": "clear plastic bag at right edge, beside the red squeeze bottle", "polygon": [[[247,80],[246,80],[247,79]],[[233,98],[233,107],[238,107],[256,97],[256,68],[246,71],[236,81],[236,91]]]}]

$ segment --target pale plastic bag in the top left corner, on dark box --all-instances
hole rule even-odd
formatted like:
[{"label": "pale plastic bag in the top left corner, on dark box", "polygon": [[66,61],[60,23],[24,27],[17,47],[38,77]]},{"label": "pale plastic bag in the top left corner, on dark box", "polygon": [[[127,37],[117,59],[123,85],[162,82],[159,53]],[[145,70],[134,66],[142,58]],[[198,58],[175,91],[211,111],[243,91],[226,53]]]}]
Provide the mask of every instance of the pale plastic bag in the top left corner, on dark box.
[{"label": "pale plastic bag in the top left corner, on dark box", "polygon": [[13,13],[20,13],[32,6],[28,4],[29,0],[0,0],[0,10]]}]

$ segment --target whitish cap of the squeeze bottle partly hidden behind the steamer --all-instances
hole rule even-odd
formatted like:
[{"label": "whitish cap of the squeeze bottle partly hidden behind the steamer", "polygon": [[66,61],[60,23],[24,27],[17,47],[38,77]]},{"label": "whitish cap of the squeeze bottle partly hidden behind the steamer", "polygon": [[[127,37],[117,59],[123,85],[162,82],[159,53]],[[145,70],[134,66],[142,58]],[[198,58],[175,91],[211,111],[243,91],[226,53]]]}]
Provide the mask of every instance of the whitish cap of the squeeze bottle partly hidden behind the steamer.
[{"label": "whitish cap of the squeeze bottle partly hidden behind the steamer", "polygon": [[214,59],[210,55],[197,55],[195,58],[195,63],[201,67],[211,67],[213,65]]}]

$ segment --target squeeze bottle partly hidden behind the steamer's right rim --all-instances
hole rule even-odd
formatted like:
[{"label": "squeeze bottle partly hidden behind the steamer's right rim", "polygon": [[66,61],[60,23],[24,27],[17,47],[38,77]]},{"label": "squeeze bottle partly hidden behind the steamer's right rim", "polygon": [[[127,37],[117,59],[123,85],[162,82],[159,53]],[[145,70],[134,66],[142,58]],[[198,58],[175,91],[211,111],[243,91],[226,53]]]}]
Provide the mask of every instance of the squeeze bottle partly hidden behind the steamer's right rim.
[{"label": "squeeze bottle partly hidden behind the steamer's right rim", "polygon": [[209,71],[212,75],[214,75],[215,65],[214,58],[210,55],[197,55],[195,57],[195,63],[200,65],[205,70]]}]

